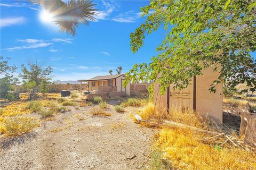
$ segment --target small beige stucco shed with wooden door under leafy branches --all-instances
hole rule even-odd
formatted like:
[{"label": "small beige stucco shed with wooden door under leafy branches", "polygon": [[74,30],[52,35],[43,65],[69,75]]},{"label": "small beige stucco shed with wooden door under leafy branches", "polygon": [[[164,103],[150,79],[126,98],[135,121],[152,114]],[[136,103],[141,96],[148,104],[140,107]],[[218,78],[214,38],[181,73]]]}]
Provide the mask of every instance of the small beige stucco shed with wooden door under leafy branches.
[{"label": "small beige stucco shed with wooden door under leafy branches", "polygon": [[214,122],[222,123],[222,83],[210,92],[209,88],[214,80],[219,77],[219,71],[213,72],[211,68],[204,70],[203,75],[193,77],[191,84],[186,89],[173,89],[172,84],[164,95],[160,95],[160,84],[154,83],[154,104],[157,109],[179,109],[182,112],[194,110],[207,116]]}]

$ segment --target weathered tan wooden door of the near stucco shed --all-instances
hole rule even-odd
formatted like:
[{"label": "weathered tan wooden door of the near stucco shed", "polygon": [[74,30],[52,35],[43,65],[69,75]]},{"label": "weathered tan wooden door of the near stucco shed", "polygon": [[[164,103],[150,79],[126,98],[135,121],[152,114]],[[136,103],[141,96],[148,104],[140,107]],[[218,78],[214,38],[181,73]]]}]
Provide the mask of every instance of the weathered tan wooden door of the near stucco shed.
[{"label": "weathered tan wooden door of the near stucco shed", "polygon": [[186,112],[193,110],[193,82],[186,89],[175,89],[170,85],[169,109],[177,109],[178,111]]}]

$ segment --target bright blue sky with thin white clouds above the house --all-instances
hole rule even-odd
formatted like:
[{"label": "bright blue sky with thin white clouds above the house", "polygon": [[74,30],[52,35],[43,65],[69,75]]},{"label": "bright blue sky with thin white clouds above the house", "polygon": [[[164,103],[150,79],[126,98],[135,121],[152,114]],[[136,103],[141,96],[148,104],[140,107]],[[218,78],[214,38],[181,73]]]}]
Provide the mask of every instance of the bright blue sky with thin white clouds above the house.
[{"label": "bright blue sky with thin white clouds above the house", "polygon": [[[130,33],[143,22],[140,7],[149,1],[94,1],[99,14],[89,26],[81,25],[77,36],[59,32],[42,19],[42,9],[27,1],[1,0],[1,56],[20,68],[26,61],[45,61],[53,67],[53,80],[89,79],[109,70],[149,62],[164,38],[164,30],[149,35],[133,54]],[[18,69],[17,73],[20,72]]]}]

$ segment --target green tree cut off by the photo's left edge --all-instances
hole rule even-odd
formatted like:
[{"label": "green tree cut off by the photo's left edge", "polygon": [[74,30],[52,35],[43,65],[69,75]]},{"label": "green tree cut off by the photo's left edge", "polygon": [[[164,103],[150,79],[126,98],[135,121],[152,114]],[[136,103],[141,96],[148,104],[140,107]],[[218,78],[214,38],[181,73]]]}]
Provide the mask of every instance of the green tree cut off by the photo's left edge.
[{"label": "green tree cut off by the photo's left edge", "polygon": [[13,73],[17,70],[14,65],[9,65],[10,58],[0,56],[0,98],[13,100],[15,94],[12,93],[14,88],[12,85],[18,83],[18,78],[13,77]]}]

